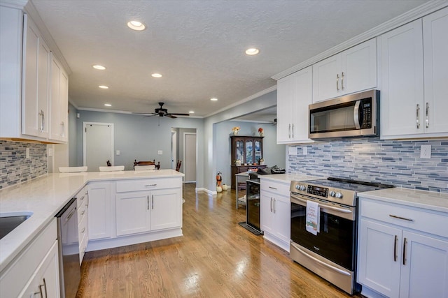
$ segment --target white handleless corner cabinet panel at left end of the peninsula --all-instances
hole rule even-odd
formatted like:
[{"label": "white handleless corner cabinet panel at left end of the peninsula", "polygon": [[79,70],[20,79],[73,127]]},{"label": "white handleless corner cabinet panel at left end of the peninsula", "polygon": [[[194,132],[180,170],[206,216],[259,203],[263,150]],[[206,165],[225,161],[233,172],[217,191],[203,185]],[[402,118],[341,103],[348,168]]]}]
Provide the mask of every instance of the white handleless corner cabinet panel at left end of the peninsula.
[{"label": "white handleless corner cabinet panel at left end of the peninsula", "polygon": [[104,239],[113,236],[113,205],[111,186],[113,182],[93,182],[88,185],[89,211],[87,227],[89,239]]}]

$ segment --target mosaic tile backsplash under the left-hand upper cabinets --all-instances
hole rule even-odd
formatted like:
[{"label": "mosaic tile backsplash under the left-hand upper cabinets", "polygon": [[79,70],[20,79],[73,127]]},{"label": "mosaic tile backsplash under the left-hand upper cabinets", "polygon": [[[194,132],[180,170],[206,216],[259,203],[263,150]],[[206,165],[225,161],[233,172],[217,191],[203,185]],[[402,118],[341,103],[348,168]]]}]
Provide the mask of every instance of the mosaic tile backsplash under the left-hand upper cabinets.
[{"label": "mosaic tile backsplash under the left-hand upper cabinets", "polygon": [[[26,158],[29,148],[30,158]],[[47,145],[0,140],[0,188],[47,173]]]}]

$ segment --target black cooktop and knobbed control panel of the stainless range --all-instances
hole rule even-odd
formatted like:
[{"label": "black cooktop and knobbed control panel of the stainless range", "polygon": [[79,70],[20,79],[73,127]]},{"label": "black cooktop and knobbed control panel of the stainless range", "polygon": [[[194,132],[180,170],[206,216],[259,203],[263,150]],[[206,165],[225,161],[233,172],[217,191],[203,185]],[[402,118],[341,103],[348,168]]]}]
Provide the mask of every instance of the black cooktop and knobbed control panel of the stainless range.
[{"label": "black cooktop and knobbed control panel of the stainless range", "polygon": [[392,187],[394,186],[388,184],[329,177],[328,179],[291,181],[290,191],[315,199],[356,206],[358,193]]}]

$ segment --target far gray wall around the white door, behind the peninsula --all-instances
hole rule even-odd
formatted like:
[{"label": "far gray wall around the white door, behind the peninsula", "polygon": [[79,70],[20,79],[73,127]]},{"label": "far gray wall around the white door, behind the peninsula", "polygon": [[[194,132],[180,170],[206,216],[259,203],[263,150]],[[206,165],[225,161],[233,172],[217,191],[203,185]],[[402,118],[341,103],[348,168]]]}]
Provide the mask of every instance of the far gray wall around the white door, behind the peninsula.
[{"label": "far gray wall around the white door, behind the peninsula", "polygon": [[[132,170],[134,159],[137,161],[160,161],[161,169],[169,169],[172,165],[171,131],[172,127],[195,128],[198,132],[198,143],[204,142],[202,135],[203,119],[168,117],[144,117],[142,115],[121,114],[112,112],[93,112],[78,110],[80,118],[76,119],[76,160],[83,165],[83,122],[112,123],[114,125],[114,150],[120,150],[114,156],[115,165],[125,165],[125,170]],[[158,150],[163,154],[158,155]],[[198,146],[198,155],[203,155]],[[197,161],[202,168],[202,159]],[[202,181],[202,171],[197,171],[197,179]]]}]

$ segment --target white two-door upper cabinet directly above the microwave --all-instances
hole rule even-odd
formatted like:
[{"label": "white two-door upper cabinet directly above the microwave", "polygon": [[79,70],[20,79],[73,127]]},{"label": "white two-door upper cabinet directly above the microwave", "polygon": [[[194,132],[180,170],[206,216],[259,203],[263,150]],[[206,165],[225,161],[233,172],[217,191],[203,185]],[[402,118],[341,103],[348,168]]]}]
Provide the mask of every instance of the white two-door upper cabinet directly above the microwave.
[{"label": "white two-door upper cabinet directly above the microwave", "polygon": [[313,65],[313,102],[377,87],[375,38]]}]

